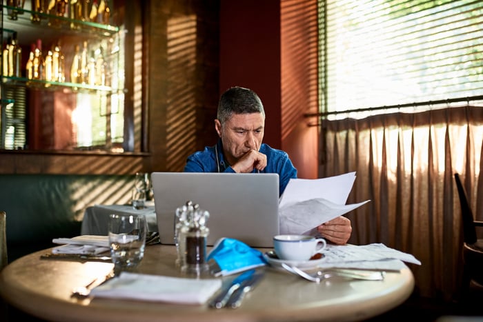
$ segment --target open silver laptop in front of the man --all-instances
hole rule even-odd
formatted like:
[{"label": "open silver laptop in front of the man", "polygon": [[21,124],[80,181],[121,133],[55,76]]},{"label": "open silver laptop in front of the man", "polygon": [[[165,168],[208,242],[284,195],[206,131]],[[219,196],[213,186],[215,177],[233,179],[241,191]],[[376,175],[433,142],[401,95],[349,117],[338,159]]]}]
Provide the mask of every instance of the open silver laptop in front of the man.
[{"label": "open silver laptop in front of the man", "polygon": [[278,174],[153,172],[151,180],[161,243],[175,243],[176,209],[193,201],[210,212],[208,245],[228,237],[273,247],[279,233]]}]

